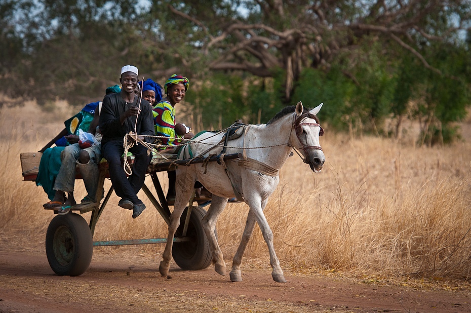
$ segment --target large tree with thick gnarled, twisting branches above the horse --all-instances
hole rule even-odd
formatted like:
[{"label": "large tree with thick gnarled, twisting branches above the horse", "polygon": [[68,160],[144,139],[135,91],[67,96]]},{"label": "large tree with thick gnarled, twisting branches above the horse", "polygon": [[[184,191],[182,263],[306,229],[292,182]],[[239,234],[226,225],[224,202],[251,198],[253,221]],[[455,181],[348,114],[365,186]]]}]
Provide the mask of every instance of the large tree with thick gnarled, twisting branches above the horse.
[{"label": "large tree with thick gnarled, twisting branches above the horse", "polygon": [[379,42],[390,56],[412,54],[425,69],[441,73],[425,51],[433,42],[459,40],[471,13],[467,0],[213,0],[167,6],[175,25],[187,30],[184,41],[210,57],[210,69],[262,77],[284,69],[286,100],[303,68],[329,69],[339,57],[348,61],[344,74],[356,81],[351,69],[362,59],[356,53],[364,53],[358,50],[364,41]]}]

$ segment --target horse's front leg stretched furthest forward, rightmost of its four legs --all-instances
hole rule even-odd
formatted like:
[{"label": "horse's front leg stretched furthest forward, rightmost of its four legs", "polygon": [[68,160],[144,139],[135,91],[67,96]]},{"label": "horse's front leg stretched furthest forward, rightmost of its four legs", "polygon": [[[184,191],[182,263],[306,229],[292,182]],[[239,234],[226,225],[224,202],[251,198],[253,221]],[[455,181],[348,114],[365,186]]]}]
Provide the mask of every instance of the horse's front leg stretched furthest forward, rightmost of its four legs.
[{"label": "horse's front leg stretched furthest forward, rightmost of its four legs", "polygon": [[262,211],[260,195],[252,194],[251,197],[247,198],[249,199],[246,199],[246,203],[249,205],[250,211],[255,215],[258,226],[260,226],[260,230],[262,231],[263,239],[265,239],[266,245],[268,246],[268,252],[270,253],[270,265],[272,268],[271,277],[278,283],[286,283],[283,270],[280,266],[280,260],[278,260],[277,254],[274,251],[273,232],[271,231],[271,228],[268,225],[268,222]]}]

